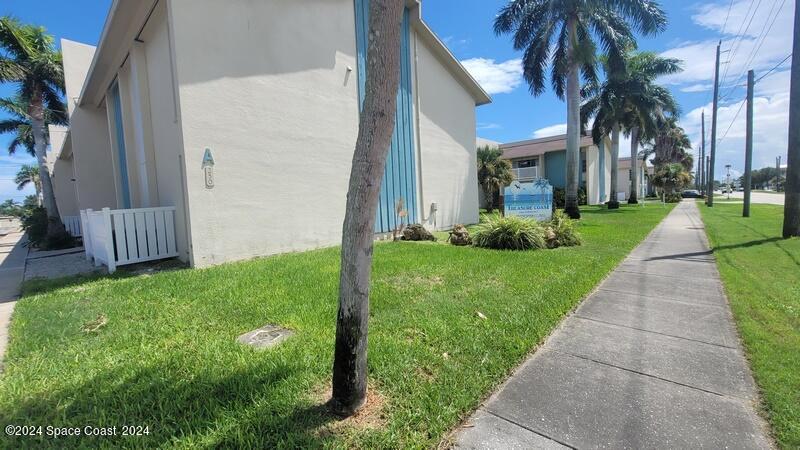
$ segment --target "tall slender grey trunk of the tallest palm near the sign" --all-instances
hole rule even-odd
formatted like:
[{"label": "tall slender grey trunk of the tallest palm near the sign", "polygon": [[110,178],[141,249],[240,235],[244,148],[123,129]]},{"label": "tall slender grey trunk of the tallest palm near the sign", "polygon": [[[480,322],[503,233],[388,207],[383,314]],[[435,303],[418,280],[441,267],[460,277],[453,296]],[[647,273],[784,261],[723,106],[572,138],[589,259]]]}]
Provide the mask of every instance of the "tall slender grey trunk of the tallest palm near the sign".
[{"label": "tall slender grey trunk of the tallest palm near the sign", "polygon": [[576,19],[569,19],[570,56],[567,73],[567,186],[564,212],[573,219],[580,219],[578,208],[578,170],[580,166],[581,133],[581,85],[580,63],[575,57],[578,45]]}]

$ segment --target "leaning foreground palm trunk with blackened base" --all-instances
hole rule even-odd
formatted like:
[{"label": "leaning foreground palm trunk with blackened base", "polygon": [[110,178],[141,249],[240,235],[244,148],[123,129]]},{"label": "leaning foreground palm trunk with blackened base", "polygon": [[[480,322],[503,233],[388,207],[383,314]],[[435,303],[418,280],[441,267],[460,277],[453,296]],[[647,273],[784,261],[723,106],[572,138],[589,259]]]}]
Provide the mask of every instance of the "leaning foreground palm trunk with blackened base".
[{"label": "leaning foreground palm trunk with blackened base", "polygon": [[375,213],[394,131],[400,80],[400,28],[404,2],[372,0],[364,107],[350,171],[342,227],[339,313],[330,407],[342,415],[367,395],[367,322]]}]

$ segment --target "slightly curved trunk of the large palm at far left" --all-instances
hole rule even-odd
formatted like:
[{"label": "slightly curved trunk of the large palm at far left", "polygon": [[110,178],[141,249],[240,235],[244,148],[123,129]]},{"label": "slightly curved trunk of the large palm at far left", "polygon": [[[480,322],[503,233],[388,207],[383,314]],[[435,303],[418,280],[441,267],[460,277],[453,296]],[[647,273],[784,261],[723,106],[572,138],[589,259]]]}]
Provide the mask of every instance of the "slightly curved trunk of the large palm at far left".
[{"label": "slightly curved trunk of the large palm at far left", "polygon": [[47,135],[41,93],[34,93],[31,97],[29,109],[33,131],[33,149],[36,154],[36,162],[39,163],[42,199],[44,201],[44,209],[47,211],[47,236],[51,237],[59,233],[65,233],[66,230],[64,224],[61,223],[61,215],[58,213],[58,204],[56,203],[55,192],[53,192],[53,182],[50,179],[50,171],[47,168]]}]

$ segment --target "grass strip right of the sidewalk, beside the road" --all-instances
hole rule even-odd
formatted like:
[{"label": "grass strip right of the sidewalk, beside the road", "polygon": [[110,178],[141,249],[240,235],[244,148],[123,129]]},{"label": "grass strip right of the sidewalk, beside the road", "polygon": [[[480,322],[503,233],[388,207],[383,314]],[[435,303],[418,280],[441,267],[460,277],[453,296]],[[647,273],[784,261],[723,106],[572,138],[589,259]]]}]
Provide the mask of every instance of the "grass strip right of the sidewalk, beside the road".
[{"label": "grass strip right of the sidewalk, beside the road", "polygon": [[782,206],[700,210],[775,437],[800,448],[800,239],[780,238]]}]

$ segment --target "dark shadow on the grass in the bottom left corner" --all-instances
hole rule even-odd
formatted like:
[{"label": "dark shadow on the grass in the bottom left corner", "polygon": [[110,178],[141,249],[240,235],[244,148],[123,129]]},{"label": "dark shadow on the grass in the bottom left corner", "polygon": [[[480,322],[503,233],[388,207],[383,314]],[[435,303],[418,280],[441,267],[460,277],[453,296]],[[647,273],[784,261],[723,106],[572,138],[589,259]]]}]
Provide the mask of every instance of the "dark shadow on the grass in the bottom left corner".
[{"label": "dark shadow on the grass in the bottom left corner", "polygon": [[[185,377],[180,363],[123,363],[83,384],[32,393],[0,413],[5,424],[118,427],[113,437],[7,437],[4,448],[199,446],[213,448],[318,447],[337,420],[325,405],[298,401],[292,388],[302,367],[249,364],[213,376]],[[297,405],[300,405],[299,407]],[[121,436],[122,426],[147,426],[148,435]],[[2,441],[3,438],[0,438]]]}]

